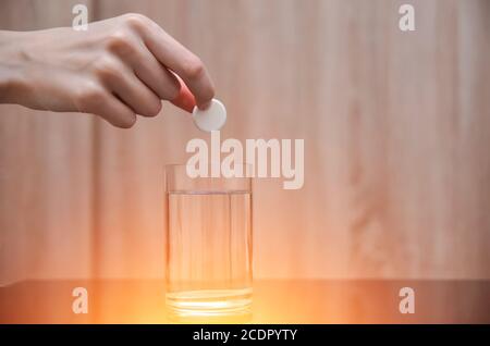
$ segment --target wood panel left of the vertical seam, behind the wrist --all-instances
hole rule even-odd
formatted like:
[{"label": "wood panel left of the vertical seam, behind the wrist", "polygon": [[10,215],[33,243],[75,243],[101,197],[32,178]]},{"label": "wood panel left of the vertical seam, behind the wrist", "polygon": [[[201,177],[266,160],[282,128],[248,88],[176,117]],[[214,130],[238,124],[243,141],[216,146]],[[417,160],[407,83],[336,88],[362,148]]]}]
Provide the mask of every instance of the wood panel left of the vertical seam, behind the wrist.
[{"label": "wood panel left of the vertical seam, behind the wrist", "polygon": [[[0,26],[71,25],[74,3],[2,1]],[[90,275],[93,121],[0,106],[0,284]]]}]

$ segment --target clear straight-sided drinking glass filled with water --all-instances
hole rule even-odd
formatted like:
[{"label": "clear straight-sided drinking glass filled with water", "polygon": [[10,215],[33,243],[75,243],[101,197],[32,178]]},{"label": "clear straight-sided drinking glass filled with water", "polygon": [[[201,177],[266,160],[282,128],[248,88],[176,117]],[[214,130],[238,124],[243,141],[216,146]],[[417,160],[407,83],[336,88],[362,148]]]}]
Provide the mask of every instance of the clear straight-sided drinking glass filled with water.
[{"label": "clear straight-sided drinking glass filled with water", "polygon": [[166,168],[167,309],[172,320],[252,316],[252,178]]}]

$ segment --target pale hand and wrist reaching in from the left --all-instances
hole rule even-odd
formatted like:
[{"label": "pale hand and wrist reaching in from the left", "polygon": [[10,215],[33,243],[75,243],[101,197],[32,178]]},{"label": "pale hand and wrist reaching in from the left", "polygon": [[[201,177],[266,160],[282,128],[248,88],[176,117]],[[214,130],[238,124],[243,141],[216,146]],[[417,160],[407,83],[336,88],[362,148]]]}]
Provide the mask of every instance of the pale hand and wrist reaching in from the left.
[{"label": "pale hand and wrist reaching in from the left", "polygon": [[0,103],[82,112],[127,128],[163,101],[206,109],[215,87],[201,60],[140,14],[39,32],[0,30]]}]

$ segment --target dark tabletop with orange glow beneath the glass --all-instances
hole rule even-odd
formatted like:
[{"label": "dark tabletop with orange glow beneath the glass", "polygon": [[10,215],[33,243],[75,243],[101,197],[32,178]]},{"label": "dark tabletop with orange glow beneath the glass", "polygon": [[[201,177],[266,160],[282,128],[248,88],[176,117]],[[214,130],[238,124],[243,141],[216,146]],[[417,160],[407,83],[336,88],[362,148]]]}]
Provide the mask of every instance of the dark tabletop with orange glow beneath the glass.
[{"label": "dark tabletop with orange glow beneath the glass", "polygon": [[[88,313],[75,314],[75,287]],[[402,287],[415,313],[399,310]],[[0,323],[169,323],[162,280],[25,281],[0,287]],[[252,323],[490,323],[490,281],[254,282]]]}]

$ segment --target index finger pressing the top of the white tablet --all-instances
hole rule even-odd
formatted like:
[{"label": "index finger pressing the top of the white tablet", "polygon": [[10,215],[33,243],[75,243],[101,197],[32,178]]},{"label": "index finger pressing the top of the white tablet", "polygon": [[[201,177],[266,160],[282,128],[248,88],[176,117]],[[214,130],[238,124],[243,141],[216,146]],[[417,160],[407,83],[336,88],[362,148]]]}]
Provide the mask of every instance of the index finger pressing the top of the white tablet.
[{"label": "index finger pressing the top of the white tablet", "polygon": [[145,45],[161,64],[182,77],[194,95],[197,107],[206,109],[215,97],[215,86],[205,65],[160,26],[147,21],[147,25],[138,26]]}]

